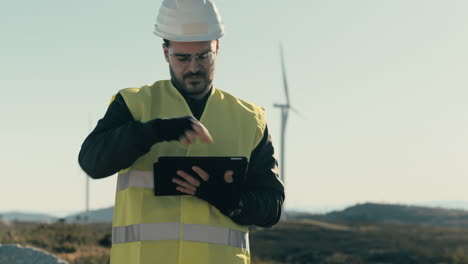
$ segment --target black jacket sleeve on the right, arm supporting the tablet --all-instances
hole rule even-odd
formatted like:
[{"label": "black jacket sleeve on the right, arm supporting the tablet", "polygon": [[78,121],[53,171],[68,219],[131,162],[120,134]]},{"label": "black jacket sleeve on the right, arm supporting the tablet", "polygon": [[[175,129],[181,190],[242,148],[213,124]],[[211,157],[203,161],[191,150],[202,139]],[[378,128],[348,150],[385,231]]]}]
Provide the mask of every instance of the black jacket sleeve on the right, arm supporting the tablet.
[{"label": "black jacket sleeve on the right, arm supporting the tablet", "polygon": [[281,217],[284,198],[278,162],[266,127],[262,140],[250,156],[246,186],[241,193],[238,215],[233,220],[244,225],[271,227]]}]

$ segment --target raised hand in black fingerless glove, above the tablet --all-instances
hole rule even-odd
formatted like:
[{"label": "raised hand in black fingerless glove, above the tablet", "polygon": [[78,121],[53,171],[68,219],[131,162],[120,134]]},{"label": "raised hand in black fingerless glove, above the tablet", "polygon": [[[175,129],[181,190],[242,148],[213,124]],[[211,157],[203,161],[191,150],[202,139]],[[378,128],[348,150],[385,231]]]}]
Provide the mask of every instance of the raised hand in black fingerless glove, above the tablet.
[{"label": "raised hand in black fingerless glove, above the tablet", "polygon": [[195,143],[196,137],[199,137],[201,142],[213,142],[208,129],[192,116],[155,119],[153,122],[160,141],[178,140],[187,146]]}]

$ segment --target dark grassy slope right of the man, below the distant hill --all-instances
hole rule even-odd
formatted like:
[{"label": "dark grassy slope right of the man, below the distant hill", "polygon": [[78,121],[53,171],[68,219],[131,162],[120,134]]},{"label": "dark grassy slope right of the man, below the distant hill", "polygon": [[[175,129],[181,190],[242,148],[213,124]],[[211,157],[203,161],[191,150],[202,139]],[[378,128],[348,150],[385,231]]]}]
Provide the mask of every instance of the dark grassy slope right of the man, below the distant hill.
[{"label": "dark grassy slope right of the man, below the distant hill", "polygon": [[455,227],[288,220],[250,244],[253,263],[468,263],[468,229]]}]

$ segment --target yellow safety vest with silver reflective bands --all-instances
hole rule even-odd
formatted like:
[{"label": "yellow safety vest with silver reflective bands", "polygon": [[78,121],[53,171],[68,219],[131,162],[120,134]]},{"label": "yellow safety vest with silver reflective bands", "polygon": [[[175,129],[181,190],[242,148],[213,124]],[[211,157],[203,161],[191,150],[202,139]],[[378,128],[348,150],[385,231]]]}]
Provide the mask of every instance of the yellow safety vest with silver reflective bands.
[{"label": "yellow safety vest with silver reflective bands", "polygon": [[[192,115],[171,81],[120,91],[135,120]],[[250,263],[248,227],[192,195],[155,196],[153,163],[161,156],[250,158],[263,137],[261,107],[213,88],[200,122],[214,142],[161,142],[119,172],[111,264]]]}]

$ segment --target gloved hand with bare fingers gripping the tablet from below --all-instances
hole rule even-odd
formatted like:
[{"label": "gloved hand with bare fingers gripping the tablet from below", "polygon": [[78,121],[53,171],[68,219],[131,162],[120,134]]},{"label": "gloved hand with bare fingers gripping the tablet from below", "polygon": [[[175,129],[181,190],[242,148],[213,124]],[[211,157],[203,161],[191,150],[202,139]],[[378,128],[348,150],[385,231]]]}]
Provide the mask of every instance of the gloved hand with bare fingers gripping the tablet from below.
[{"label": "gloved hand with bare fingers gripping the tablet from below", "polygon": [[202,182],[184,171],[177,171],[177,175],[184,179],[172,179],[178,185],[176,187],[178,191],[197,196],[228,216],[231,214],[232,209],[239,206],[240,190],[238,186],[232,184],[232,175],[234,174],[232,170],[224,172],[224,183],[216,179],[210,179],[210,175],[200,167],[194,166],[192,170],[200,176]]}]

